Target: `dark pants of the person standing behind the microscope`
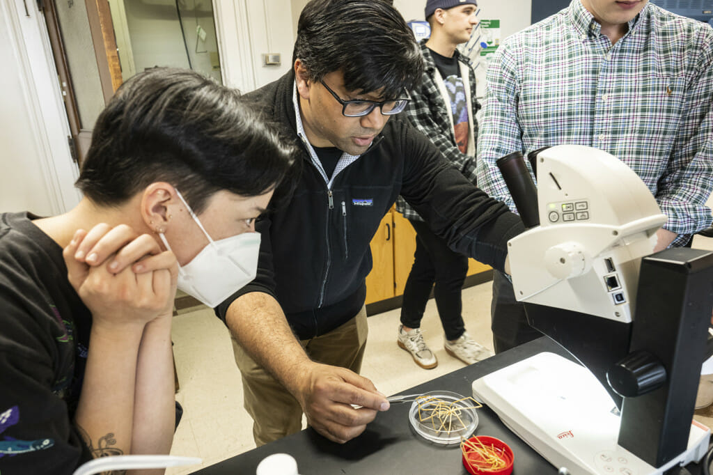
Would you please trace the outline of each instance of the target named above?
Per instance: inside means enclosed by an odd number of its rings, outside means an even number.
[[[493,271],[491,330],[495,352],[504,352],[543,334],[528,324],[523,304],[515,300],[513,284],[503,272]]]

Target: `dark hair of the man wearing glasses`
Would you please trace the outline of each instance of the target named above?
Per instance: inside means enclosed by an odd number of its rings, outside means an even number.
[[[304,63],[312,81],[344,73],[347,91],[397,98],[419,83],[421,49],[404,17],[389,1],[312,0],[302,10],[292,62]]]

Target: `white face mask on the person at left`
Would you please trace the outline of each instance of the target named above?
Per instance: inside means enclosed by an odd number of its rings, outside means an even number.
[[[183,267],[178,266],[178,288],[208,307],[215,308],[255,279],[260,233],[242,233],[214,241],[178,190],[176,194],[209,241],[193,260]],[[171,250],[163,233],[158,236]]]

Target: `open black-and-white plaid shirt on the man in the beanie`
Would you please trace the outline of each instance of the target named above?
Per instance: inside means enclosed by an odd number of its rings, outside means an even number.
[[[421,41],[421,53],[424,56],[425,69],[421,76],[421,86],[409,91],[411,101],[406,106],[404,113],[409,118],[409,121],[416,126],[424,135],[441,150],[441,153],[453,162],[453,165],[461,170],[466,178],[475,183],[476,180],[476,157],[475,155],[467,155],[461,153],[456,145],[456,136],[453,133],[453,113],[451,112],[451,103],[448,98],[443,98],[441,89],[438,88],[436,81],[443,81],[436,68],[431,50],[426,47],[426,40]],[[481,108],[481,105],[476,101],[476,73],[473,71],[471,60],[459,53],[457,50],[455,56],[458,61],[467,66],[468,78],[463,78],[463,87],[469,88],[468,95],[471,100],[471,108],[468,111],[473,122],[473,134],[470,140],[475,141],[478,137],[478,124],[476,122],[476,113]],[[463,68],[461,68],[461,72]],[[473,149],[474,150],[474,149]],[[399,196],[396,200],[396,210],[402,213],[409,220],[422,221],[419,213],[416,213],[409,203],[406,203],[404,198]]]

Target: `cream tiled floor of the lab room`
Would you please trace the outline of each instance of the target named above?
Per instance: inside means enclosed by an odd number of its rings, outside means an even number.
[[[694,245],[713,249],[713,239],[697,238]],[[466,328],[473,338],[492,349],[490,302],[490,282],[463,291]],[[369,317],[362,374],[384,394],[395,394],[463,367],[443,349],[443,330],[433,300],[429,301],[421,329],[436,353],[438,367],[421,369],[396,346],[398,325],[398,309]],[[184,313],[174,317],[173,342],[180,382],[177,399],[184,413],[171,453],[199,456],[207,466],[255,447],[252,421],[242,409],[240,373],[225,325],[207,308]],[[713,409],[697,412],[696,419],[710,426]],[[188,474],[199,468],[168,469],[166,473]]]

